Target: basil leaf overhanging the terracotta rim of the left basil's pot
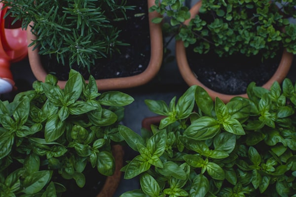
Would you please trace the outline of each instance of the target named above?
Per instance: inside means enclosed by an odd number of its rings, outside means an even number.
[[[113,175],[115,171],[115,160],[110,152],[101,151],[97,154],[97,169],[105,176]]]

